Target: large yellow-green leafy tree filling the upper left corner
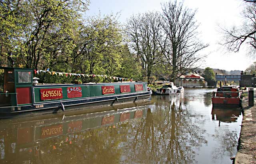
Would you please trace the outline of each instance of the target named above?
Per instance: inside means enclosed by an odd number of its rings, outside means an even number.
[[[74,29],[88,4],[87,0],[1,1],[0,14],[8,13],[1,18],[1,55],[29,68],[38,68],[39,63],[40,67],[54,66],[58,58],[63,61],[63,56],[70,55]]]

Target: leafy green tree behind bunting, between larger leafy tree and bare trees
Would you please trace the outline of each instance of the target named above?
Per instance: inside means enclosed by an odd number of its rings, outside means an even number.
[[[116,16],[88,19],[72,54],[81,73],[115,75],[121,65],[122,31]]]

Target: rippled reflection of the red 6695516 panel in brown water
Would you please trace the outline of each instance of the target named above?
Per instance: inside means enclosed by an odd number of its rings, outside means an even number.
[[[41,128],[41,132],[42,132],[41,138],[58,136],[58,135],[62,134],[62,131],[63,131],[62,124],[43,127],[43,128]]]

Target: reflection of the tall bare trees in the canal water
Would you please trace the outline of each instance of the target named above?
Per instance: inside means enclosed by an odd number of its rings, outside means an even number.
[[[178,99],[172,104],[166,99],[168,96],[157,97],[151,106],[154,112],[149,108],[146,120],[134,127],[124,163],[196,163],[192,146],[207,142],[204,130],[191,124],[195,121]]]

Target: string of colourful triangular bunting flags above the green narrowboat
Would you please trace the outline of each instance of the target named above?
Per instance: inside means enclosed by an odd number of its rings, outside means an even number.
[[[50,75],[56,75],[56,76],[77,76],[77,77],[104,77],[104,78],[109,78],[109,79],[114,79],[117,81],[132,81],[132,79],[128,79],[128,78],[123,78],[123,77],[115,77],[115,76],[108,76],[108,75],[88,75],[88,74],[82,74],[82,73],[66,73],[66,72],[56,72],[56,71],[49,71],[49,69],[47,70],[34,70],[35,74],[39,74],[39,73],[49,73]]]

